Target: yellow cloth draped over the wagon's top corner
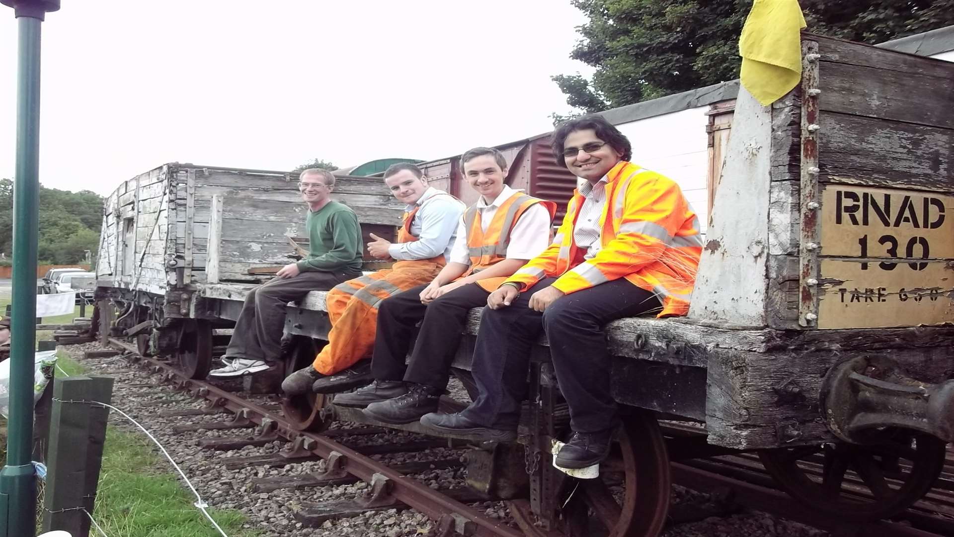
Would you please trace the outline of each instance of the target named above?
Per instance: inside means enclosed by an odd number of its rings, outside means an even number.
[[[756,0],[738,39],[742,86],[762,106],[792,91],[801,80],[801,43],[805,28],[798,0]]]

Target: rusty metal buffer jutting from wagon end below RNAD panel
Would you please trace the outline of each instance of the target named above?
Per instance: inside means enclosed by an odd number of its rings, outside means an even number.
[[[841,440],[872,443],[886,429],[902,428],[954,441],[954,380],[922,382],[886,356],[836,365],[819,397],[825,425]]]

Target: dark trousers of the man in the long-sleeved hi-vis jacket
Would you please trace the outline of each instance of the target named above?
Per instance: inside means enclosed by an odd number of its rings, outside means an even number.
[[[546,333],[560,392],[570,406],[570,427],[592,433],[614,425],[612,356],[603,325],[658,310],[659,300],[651,291],[619,279],[562,296],[542,313],[531,310],[530,296],[554,281],[541,280],[507,308],[484,310],[471,366],[480,397],[464,411],[468,419],[516,427],[527,390],[530,348]]]

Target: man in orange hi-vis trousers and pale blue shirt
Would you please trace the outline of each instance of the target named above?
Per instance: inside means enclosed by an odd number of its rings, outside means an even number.
[[[395,263],[391,269],[348,280],[328,291],[328,344],[312,365],[285,378],[281,389],[286,395],[340,391],[369,382],[368,368],[360,376],[346,375],[350,384],[333,380],[334,374],[370,356],[381,301],[433,280],[446,265],[465,205],[445,191],[428,186],[421,168],[411,163],[392,164],[384,171],[384,183],[395,198],[407,204],[404,225],[397,243],[372,234],[374,240],[367,244],[367,251],[377,259],[390,258]],[[327,386],[322,387],[322,381]]]

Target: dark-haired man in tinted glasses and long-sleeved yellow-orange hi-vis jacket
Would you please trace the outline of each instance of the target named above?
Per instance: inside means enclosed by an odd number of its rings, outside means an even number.
[[[606,119],[570,119],[552,143],[557,161],[584,181],[550,247],[487,298],[471,365],[480,396],[462,412],[421,422],[515,439],[530,347],[546,333],[573,430],[555,462],[585,468],[609,454],[617,421],[603,325],[689,311],[702,242],[679,186],[630,162],[630,141]]]

